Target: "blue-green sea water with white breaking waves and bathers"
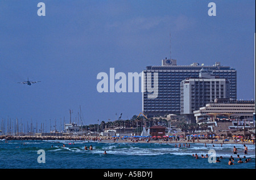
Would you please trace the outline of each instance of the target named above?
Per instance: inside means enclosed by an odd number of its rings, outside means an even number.
[[[74,143],[74,144],[73,144]],[[243,154],[243,144],[207,144],[189,143],[190,148],[175,147],[175,143],[113,143],[88,141],[52,141],[52,140],[0,140],[1,169],[255,169],[255,145],[248,144],[248,155]],[[65,147],[63,147],[65,144]],[[93,150],[85,150],[92,145]],[[238,164],[233,154],[236,145],[238,154],[251,158],[248,163]],[[45,152],[45,163],[39,163],[38,151]],[[218,163],[209,163],[209,150],[214,149],[216,157],[223,159]],[[106,155],[104,155],[106,151]],[[196,159],[192,154],[199,155]],[[230,156],[235,165],[229,166]]]

